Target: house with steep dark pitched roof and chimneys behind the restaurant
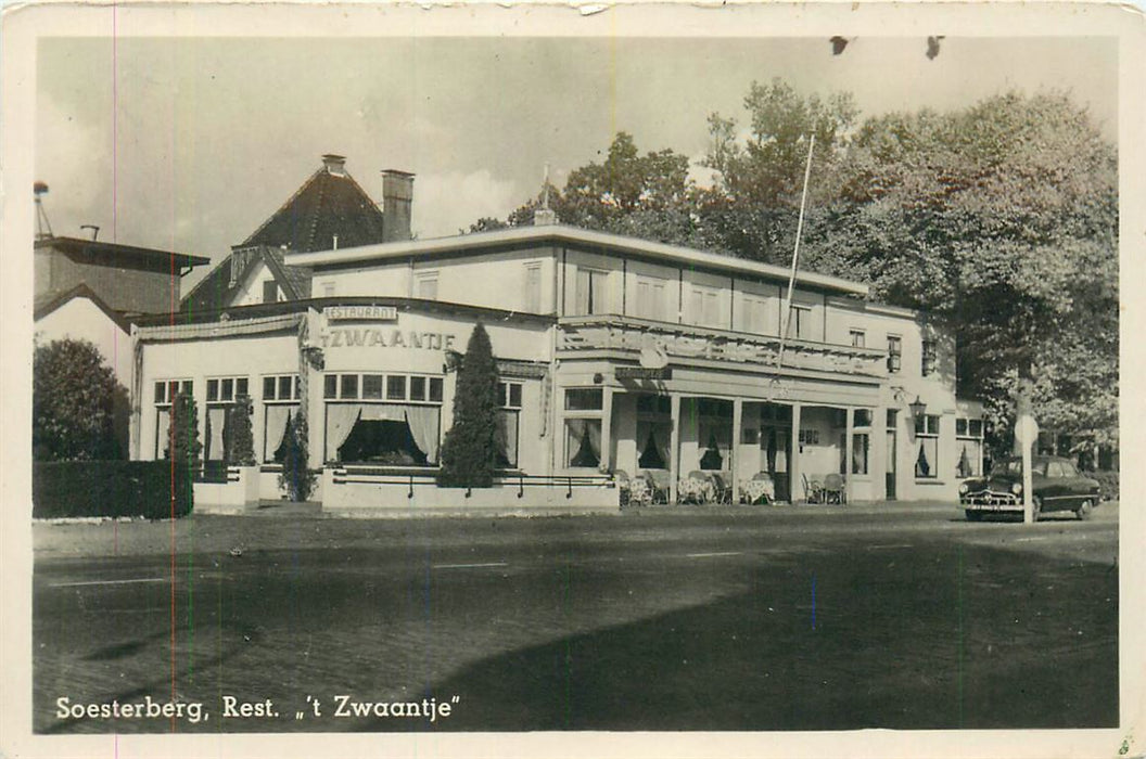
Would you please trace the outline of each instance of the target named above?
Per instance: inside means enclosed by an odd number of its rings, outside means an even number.
[[[414,175],[383,172],[383,207],[346,172],[343,156],[322,167],[183,298],[182,311],[311,297],[311,270],[284,254],[358,247],[410,238]]]

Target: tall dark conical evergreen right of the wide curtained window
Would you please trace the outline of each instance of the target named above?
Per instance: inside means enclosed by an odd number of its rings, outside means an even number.
[[[470,334],[457,370],[454,425],[441,446],[438,484],[449,488],[488,488],[496,467],[497,362],[485,326]]]

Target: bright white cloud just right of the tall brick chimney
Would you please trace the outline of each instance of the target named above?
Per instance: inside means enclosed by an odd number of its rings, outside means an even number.
[[[414,232],[422,238],[456,235],[482,216],[504,219],[528,196],[488,169],[419,174],[414,181]]]

